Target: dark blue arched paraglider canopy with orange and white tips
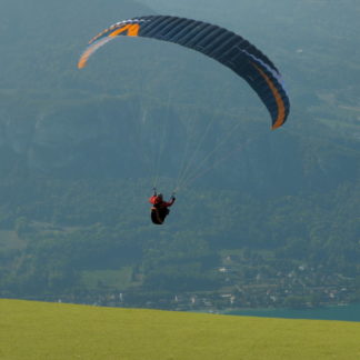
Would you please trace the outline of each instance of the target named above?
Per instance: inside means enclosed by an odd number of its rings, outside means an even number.
[[[197,50],[243,78],[267,107],[272,129],[281,127],[289,114],[290,102],[281,74],[274,64],[239,34],[207,22],[167,16],[148,16],[114,23],[89,42],[78,67],[103,44],[119,36],[153,38]]]

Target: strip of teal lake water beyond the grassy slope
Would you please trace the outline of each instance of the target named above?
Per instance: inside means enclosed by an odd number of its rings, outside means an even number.
[[[284,318],[284,319],[360,321],[360,303],[341,306],[341,307],[306,309],[306,310],[290,310],[290,309],[239,310],[239,311],[227,312],[227,314],[264,317],[264,318]]]

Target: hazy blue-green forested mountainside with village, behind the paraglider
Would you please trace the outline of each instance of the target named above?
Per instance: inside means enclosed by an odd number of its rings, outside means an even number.
[[[166,7],[269,54],[291,101],[271,131],[244,81],[176,44],[124,38],[77,69],[91,37],[161,1],[4,0],[0,296],[177,309],[359,301],[359,6],[346,2],[294,12],[279,1],[266,20],[264,1],[244,1],[227,21],[214,1],[202,17],[200,2]],[[180,186],[158,228],[156,180],[169,196]]]

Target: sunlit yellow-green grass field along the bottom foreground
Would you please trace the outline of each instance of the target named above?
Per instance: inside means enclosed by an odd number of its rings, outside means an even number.
[[[0,359],[360,359],[360,323],[0,299]]]

